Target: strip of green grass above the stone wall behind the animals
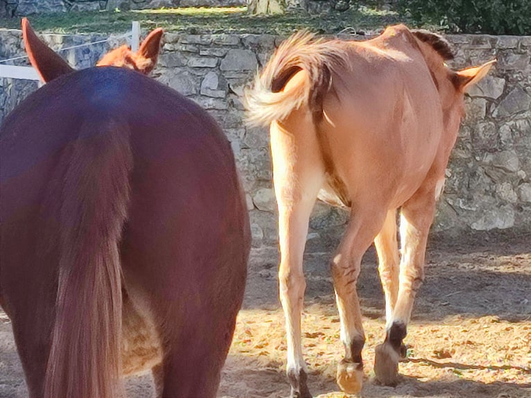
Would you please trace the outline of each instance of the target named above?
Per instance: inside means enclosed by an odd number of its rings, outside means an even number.
[[[199,33],[270,33],[289,35],[306,28],[315,33],[378,31],[390,24],[410,20],[397,12],[360,6],[345,12],[309,16],[303,12],[253,16],[239,8],[173,8],[128,12],[70,12],[60,15],[35,15],[30,22],[39,33],[125,33],[131,21],[140,21],[143,31],[162,27],[166,31]],[[19,28],[17,18],[0,19],[0,28]]]

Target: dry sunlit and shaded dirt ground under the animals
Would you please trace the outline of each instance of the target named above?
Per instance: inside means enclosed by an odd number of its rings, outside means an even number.
[[[255,249],[243,309],[219,397],[289,395],[284,318],[275,248]],[[315,396],[347,397],[333,380],[342,355],[329,252],[306,254],[303,343]],[[358,292],[367,343],[362,397],[531,397],[531,235],[478,234],[430,241],[426,281],[415,304],[396,388],[374,382],[374,347],[384,336],[383,293],[374,250]],[[127,381],[130,398],[150,397],[149,376]],[[0,397],[26,397],[10,323],[0,312]],[[198,397],[201,398],[201,397]]]

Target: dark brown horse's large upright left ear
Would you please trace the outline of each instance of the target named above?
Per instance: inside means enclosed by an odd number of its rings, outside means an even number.
[[[22,36],[31,65],[37,69],[44,82],[48,83],[59,76],[74,71],[65,60],[35,35],[27,18],[22,19]]]

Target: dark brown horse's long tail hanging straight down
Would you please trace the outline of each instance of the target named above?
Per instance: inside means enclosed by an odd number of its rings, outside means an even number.
[[[89,121],[58,164],[59,271],[44,398],[123,397],[119,241],[132,169],[129,128]]]

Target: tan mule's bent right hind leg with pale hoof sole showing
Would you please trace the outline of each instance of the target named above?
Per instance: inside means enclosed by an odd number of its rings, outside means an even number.
[[[341,390],[349,394],[360,392],[363,386],[361,351],[365,344],[365,334],[356,282],[363,253],[373,241],[383,222],[383,217],[376,216],[376,213],[372,211],[370,213],[372,217],[367,218],[366,222],[363,221],[363,217],[360,217],[361,214],[356,214],[356,219],[350,221],[338,252],[331,262],[333,285],[341,320],[340,338],[345,346],[345,358],[338,365],[336,381]]]

